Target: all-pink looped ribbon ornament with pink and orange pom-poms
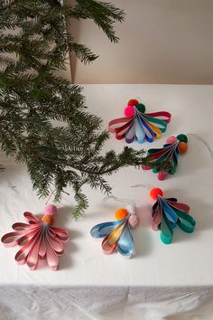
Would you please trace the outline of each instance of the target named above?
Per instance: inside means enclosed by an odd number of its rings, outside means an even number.
[[[42,220],[31,212],[24,212],[28,223],[17,222],[13,232],[6,233],[2,242],[6,247],[19,245],[22,248],[14,259],[18,264],[26,263],[31,270],[38,266],[39,259],[46,259],[52,270],[59,268],[59,257],[64,253],[63,242],[68,240],[68,231],[53,227],[53,216],[57,212],[55,205],[45,207]]]

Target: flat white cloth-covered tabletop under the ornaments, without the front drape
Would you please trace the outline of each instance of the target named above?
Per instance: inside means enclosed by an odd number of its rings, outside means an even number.
[[[213,86],[182,85],[85,85],[89,111],[103,118],[103,128],[113,118],[123,115],[128,99],[141,98],[147,112],[171,112],[171,124],[153,146],[162,146],[171,135],[196,134],[213,149]],[[124,141],[111,136],[105,149],[122,150]],[[139,149],[151,145],[131,146]],[[1,236],[11,230],[14,221],[23,221],[23,212],[42,213],[45,200],[38,200],[24,166],[1,155],[6,170],[1,173]],[[1,285],[43,286],[212,286],[213,261],[213,170],[208,147],[196,136],[189,136],[189,151],[181,155],[177,174],[160,182],[151,171],[128,167],[108,178],[113,195],[136,203],[140,226],[134,233],[135,256],[122,259],[116,253],[106,256],[100,242],[92,240],[90,229],[102,221],[113,221],[115,211],[125,203],[109,199],[98,190],[85,187],[89,208],[80,221],[71,219],[75,204],[72,196],[63,196],[56,224],[69,230],[66,254],[60,257],[57,272],[41,266],[35,271],[18,266],[14,261],[17,248],[1,246]],[[137,185],[137,187],[135,187]],[[153,201],[149,190],[160,187],[166,196],[188,203],[197,221],[193,234],[174,231],[171,245],[164,245],[160,233],[152,231]],[[69,190],[68,190],[69,192]]]

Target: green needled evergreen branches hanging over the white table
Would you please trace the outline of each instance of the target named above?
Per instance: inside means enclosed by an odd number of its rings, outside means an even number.
[[[146,164],[144,151],[125,147],[101,154],[108,134],[88,113],[81,88],[55,74],[69,49],[84,62],[97,56],[67,34],[66,19],[92,19],[112,42],[114,23],[124,19],[114,5],[78,0],[0,0],[0,143],[8,156],[27,165],[39,196],[55,189],[55,201],[71,186],[78,218],[88,207],[82,186],[110,193],[104,176],[127,165]],[[2,169],[2,168],[1,168]]]

